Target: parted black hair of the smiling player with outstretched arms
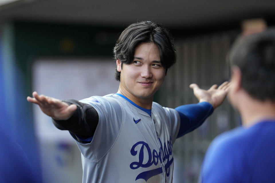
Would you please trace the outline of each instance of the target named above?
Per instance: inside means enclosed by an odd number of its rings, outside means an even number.
[[[115,59],[120,59],[121,68],[123,63],[133,62],[137,45],[148,42],[158,46],[160,62],[166,71],[176,62],[176,50],[169,31],[154,22],[142,21],[129,25],[117,39],[113,52]],[[117,68],[115,68],[115,79],[120,81],[120,72]]]

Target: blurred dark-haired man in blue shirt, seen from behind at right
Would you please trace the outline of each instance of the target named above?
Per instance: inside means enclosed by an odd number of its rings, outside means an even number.
[[[242,126],[213,140],[201,182],[275,182],[275,29],[239,38],[229,61],[228,96]]]

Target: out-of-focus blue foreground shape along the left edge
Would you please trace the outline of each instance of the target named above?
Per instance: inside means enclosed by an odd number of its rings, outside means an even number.
[[[23,151],[15,142],[5,106],[5,78],[0,39],[0,182],[34,183],[39,182],[37,174]]]

